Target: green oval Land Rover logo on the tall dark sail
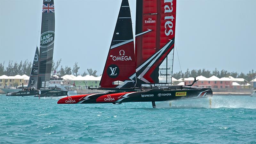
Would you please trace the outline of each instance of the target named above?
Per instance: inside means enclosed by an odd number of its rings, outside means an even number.
[[[54,42],[54,31],[47,31],[41,35],[40,46],[47,47]]]

